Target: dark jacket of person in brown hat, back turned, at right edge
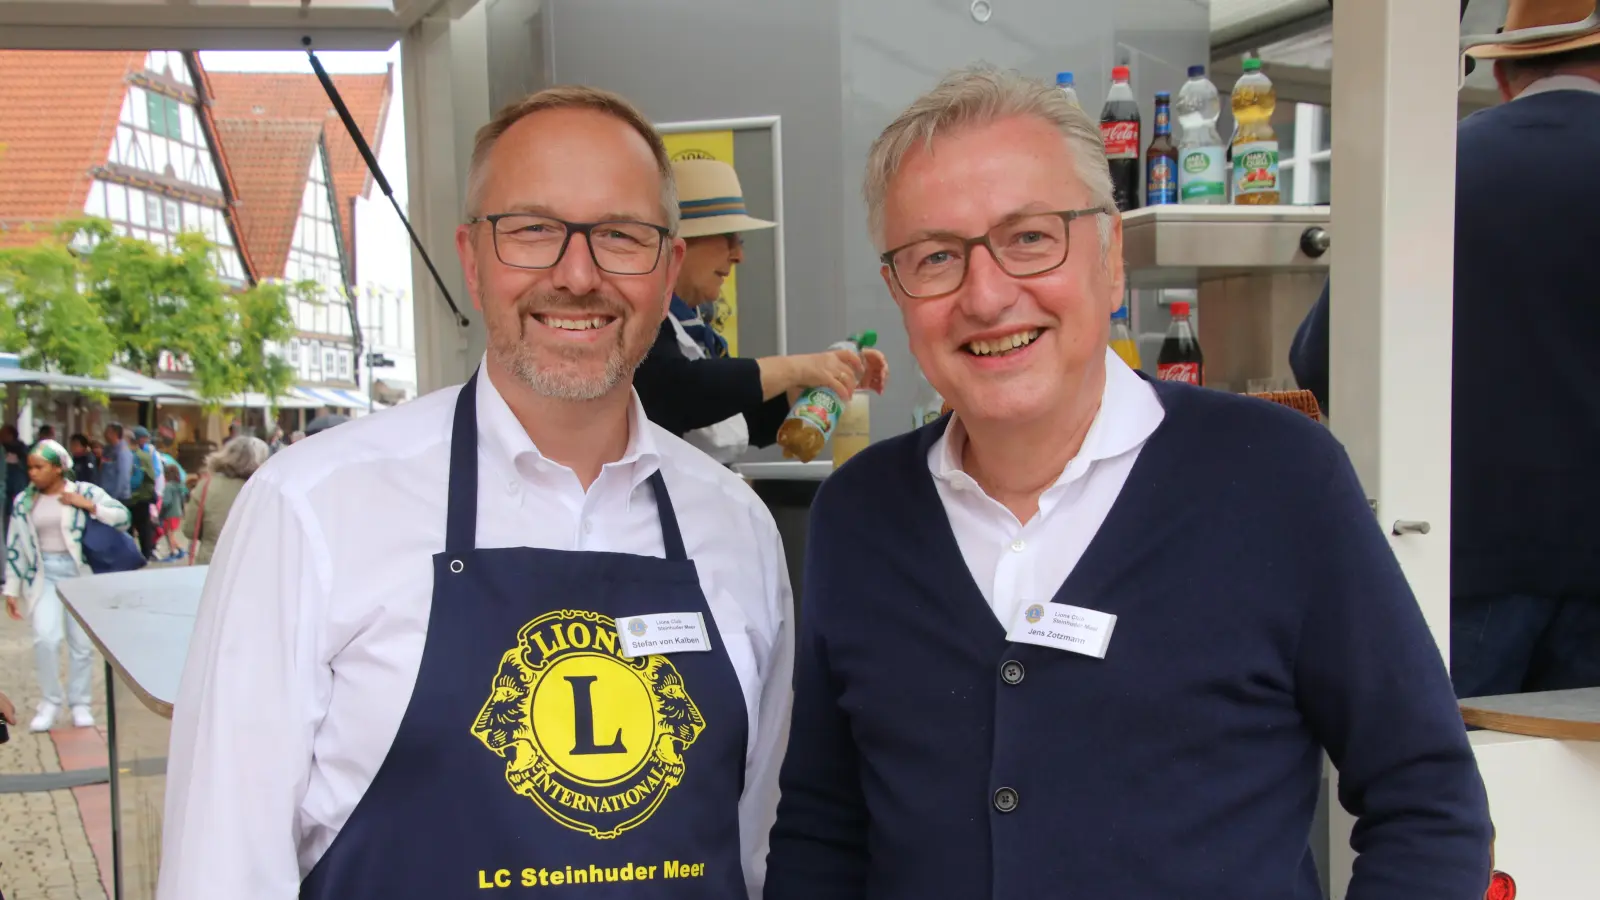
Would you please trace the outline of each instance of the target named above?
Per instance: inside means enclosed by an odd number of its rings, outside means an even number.
[[[1450,593],[1600,596],[1600,94],[1456,131]],[[1328,293],[1290,364],[1328,408]],[[1403,335],[1392,340],[1403,340]],[[1330,410],[1338,415],[1338,410]]]

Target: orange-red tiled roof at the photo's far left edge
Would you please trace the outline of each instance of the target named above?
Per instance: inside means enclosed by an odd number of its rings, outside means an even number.
[[[0,245],[83,215],[90,170],[110,155],[130,72],[144,53],[0,51]]]

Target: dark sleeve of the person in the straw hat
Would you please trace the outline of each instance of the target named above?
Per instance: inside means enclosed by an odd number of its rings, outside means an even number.
[[[760,364],[739,357],[690,359],[667,320],[634,373],[634,389],[650,421],[678,437],[742,415],[750,447],[766,447],[778,440],[778,428],[789,415],[786,396],[762,399]]]

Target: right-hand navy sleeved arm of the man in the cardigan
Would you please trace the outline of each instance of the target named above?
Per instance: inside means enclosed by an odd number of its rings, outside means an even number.
[[[1307,612],[1294,693],[1355,817],[1349,900],[1462,900],[1490,881],[1488,798],[1450,674],[1342,448],[1298,538]]]

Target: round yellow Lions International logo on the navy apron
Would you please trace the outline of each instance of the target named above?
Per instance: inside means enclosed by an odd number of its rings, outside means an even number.
[[[514,791],[600,839],[656,812],[702,730],[678,669],[666,657],[626,658],[616,621],[587,610],[522,626],[472,725]]]

